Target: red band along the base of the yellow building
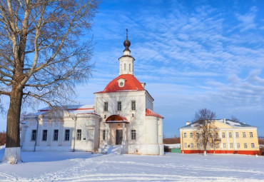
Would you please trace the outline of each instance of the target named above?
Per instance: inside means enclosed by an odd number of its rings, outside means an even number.
[[[203,150],[181,150],[181,153],[203,153]],[[245,155],[260,155],[260,151],[221,151],[221,150],[210,150],[206,153],[233,153],[233,154],[245,154]]]

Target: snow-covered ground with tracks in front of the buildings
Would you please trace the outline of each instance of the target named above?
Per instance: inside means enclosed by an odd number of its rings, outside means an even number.
[[[114,148],[113,148],[114,149]],[[0,149],[0,158],[4,149]],[[0,163],[0,181],[264,181],[264,157],[166,153],[22,152]]]

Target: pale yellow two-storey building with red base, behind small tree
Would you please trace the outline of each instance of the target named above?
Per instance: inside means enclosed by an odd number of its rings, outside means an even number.
[[[260,154],[257,127],[225,118],[215,120],[214,125],[216,137],[208,143],[207,153]],[[195,123],[187,121],[179,129],[181,153],[203,153],[202,143],[196,140]]]

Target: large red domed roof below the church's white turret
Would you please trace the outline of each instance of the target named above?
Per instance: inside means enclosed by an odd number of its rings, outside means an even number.
[[[125,79],[125,84],[123,87],[118,86],[118,79]],[[116,79],[113,79],[103,91],[99,91],[96,93],[109,93],[116,91],[145,91],[141,83],[136,79],[135,76],[131,74],[122,74]]]

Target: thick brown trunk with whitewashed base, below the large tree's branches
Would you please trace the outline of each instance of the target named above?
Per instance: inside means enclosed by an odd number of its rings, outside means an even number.
[[[11,91],[9,111],[7,113],[6,148],[2,161],[18,163],[20,156],[20,112],[23,91]]]

